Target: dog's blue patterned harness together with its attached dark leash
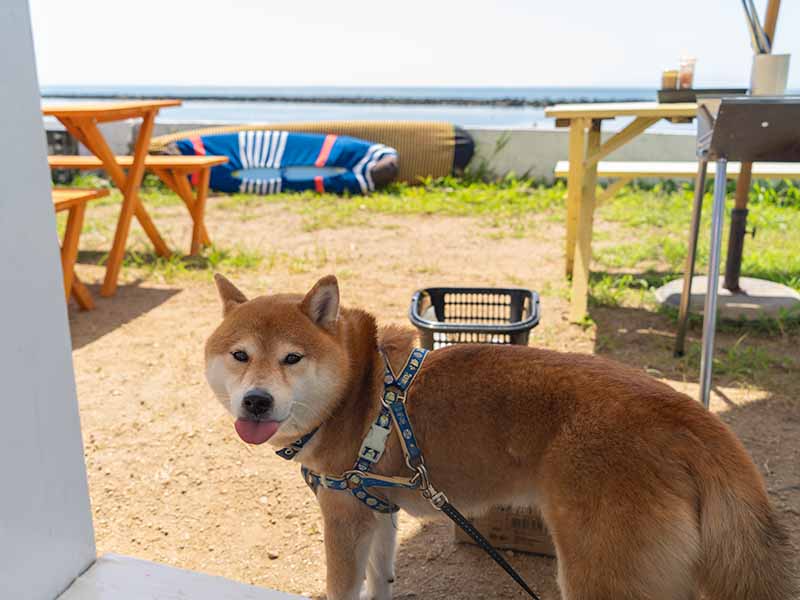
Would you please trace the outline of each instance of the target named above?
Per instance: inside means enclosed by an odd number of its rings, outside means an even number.
[[[400,375],[395,375],[389,359],[381,351],[383,357],[384,378],[383,378],[383,397],[381,399],[381,411],[378,418],[370,428],[367,437],[361,445],[356,464],[350,471],[346,471],[341,477],[314,473],[305,466],[301,467],[303,479],[316,494],[317,489],[322,486],[332,490],[349,490],[358,500],[366,504],[372,510],[383,513],[394,513],[400,510],[397,505],[388,502],[372,494],[369,487],[395,487],[405,489],[418,489],[422,496],[431,503],[436,510],[444,513],[453,523],[458,525],[464,533],[472,538],[475,543],[493,561],[500,565],[503,570],[534,600],[541,600],[522,576],[512,567],[508,561],[492,546],[480,531],[462,515],[447,499],[444,492],[437,491],[430,482],[428,469],[422,457],[422,451],[417,444],[414,431],[411,428],[411,421],[406,412],[405,401],[406,392],[419,372],[422,362],[425,360],[428,351],[415,348],[408,357]],[[386,444],[386,438],[392,426],[397,429],[400,438],[400,446],[405,455],[406,465],[414,471],[411,478],[387,477],[369,472],[372,465],[380,460]],[[276,452],[281,458],[292,460],[303,446],[316,433],[316,429],[294,442],[288,448],[283,448]]]

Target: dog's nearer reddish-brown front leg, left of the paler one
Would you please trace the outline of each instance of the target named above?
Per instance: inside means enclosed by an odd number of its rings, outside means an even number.
[[[325,527],[328,600],[359,600],[375,517],[347,492],[320,489],[317,497]]]

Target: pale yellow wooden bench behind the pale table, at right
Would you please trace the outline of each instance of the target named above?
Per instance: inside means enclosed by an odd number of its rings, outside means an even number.
[[[734,179],[741,171],[740,163],[728,163],[727,177]],[[714,177],[715,165],[708,164],[708,177]],[[560,160],[554,171],[556,177],[569,175],[569,161]],[[697,175],[697,163],[677,162],[631,162],[600,161],[597,176],[615,179],[605,190],[597,194],[597,202],[603,202],[616,194],[632,179],[693,179]],[[800,163],[753,163],[753,177],[761,179],[800,179]]]

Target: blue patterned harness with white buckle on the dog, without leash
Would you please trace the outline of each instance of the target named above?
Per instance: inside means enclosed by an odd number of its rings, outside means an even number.
[[[422,452],[419,449],[416,437],[414,437],[414,430],[411,428],[411,421],[408,418],[405,406],[406,392],[414,382],[414,378],[427,354],[428,351],[422,348],[412,350],[405,366],[400,371],[400,375],[396,376],[386,354],[381,352],[384,362],[384,376],[380,413],[378,413],[378,417],[361,443],[361,449],[351,470],[345,471],[339,477],[335,477],[324,473],[315,473],[304,466],[300,468],[303,479],[315,493],[320,486],[331,490],[350,490],[356,498],[372,510],[382,513],[394,513],[400,510],[399,506],[376,496],[368,488],[403,488],[407,490],[428,488]],[[383,456],[392,424],[394,424],[399,434],[400,445],[406,457],[406,465],[415,472],[413,477],[388,477],[377,475],[370,471]],[[278,450],[276,454],[286,460],[293,460],[316,432],[317,430],[315,429],[307,433],[290,446]],[[420,467],[423,467],[422,470],[420,470]]]

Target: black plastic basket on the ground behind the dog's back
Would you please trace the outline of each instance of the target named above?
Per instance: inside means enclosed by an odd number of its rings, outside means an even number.
[[[429,350],[465,343],[527,345],[539,324],[539,295],[517,288],[426,288],[414,293],[408,316]]]

